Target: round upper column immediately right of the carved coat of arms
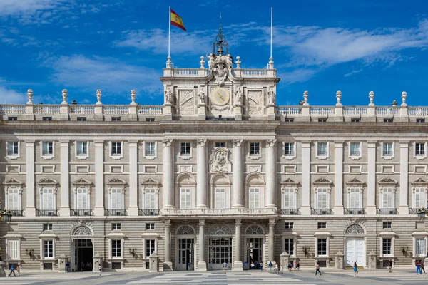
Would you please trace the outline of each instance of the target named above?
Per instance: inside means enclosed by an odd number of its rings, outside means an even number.
[[[243,208],[243,140],[232,140],[233,144],[233,208]]]

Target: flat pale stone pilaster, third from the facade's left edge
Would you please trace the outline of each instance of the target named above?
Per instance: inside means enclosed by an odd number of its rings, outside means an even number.
[[[104,216],[104,141],[95,141],[95,209],[96,216]]]

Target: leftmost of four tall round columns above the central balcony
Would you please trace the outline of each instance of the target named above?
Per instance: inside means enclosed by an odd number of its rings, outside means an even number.
[[[173,140],[163,140],[163,209],[174,207]]]

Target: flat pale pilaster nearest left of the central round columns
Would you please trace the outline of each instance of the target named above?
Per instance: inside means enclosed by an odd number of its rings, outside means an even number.
[[[128,214],[130,216],[138,216],[138,141],[133,141],[128,143],[129,143]]]

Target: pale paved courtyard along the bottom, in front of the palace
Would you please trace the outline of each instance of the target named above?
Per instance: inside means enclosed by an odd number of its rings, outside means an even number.
[[[22,274],[2,278],[1,284],[427,284],[427,275],[416,275],[413,271],[360,271],[360,276],[354,278],[352,271],[325,271],[322,276],[315,276],[312,271],[285,272],[274,274],[260,271],[208,271],[186,272],[176,271],[169,273],[104,273],[102,276],[91,273],[69,274]]]

